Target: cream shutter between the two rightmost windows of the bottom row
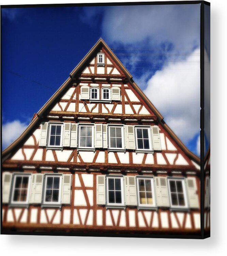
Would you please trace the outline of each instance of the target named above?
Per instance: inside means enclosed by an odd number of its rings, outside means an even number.
[[[155,177],[157,206],[169,207],[169,194],[166,177]]]

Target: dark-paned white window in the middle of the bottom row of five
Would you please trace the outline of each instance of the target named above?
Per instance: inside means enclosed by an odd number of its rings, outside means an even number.
[[[124,205],[123,177],[107,177],[107,204]]]

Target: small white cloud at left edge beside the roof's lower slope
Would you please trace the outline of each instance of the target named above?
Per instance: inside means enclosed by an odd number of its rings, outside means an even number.
[[[14,120],[2,125],[2,148],[6,148],[17,139],[26,127],[27,124],[21,123],[19,120]]]

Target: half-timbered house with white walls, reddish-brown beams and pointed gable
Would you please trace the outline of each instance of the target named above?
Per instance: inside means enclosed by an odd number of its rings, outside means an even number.
[[[200,233],[200,159],[102,39],[2,157],[3,230]]]

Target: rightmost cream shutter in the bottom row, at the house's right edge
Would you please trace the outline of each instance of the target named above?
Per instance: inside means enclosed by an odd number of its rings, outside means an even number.
[[[190,208],[199,208],[199,199],[197,195],[196,178],[188,177],[187,183],[187,195]]]

